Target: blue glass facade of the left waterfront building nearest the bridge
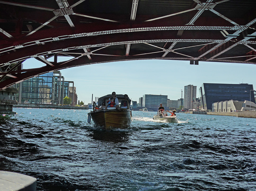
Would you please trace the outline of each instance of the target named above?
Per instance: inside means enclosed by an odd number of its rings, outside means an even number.
[[[21,103],[26,100],[30,104],[53,104],[55,77],[53,72],[42,74],[25,80],[21,86]]]

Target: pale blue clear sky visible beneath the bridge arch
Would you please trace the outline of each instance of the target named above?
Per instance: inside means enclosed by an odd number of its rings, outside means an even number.
[[[58,57],[58,62],[70,57]],[[51,61],[51,60],[48,60]],[[23,62],[23,68],[45,66],[30,58]],[[200,62],[190,65],[189,61],[136,60],[92,64],[60,70],[65,81],[74,81],[79,101],[91,103],[95,97],[111,94],[127,94],[133,101],[139,101],[144,94],[167,95],[170,100],[184,98],[184,86],[203,83],[255,84],[256,65],[242,63]],[[255,89],[255,86],[254,86]]]

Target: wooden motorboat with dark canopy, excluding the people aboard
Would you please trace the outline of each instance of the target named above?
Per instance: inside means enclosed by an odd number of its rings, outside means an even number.
[[[107,106],[107,101],[110,97],[112,97],[111,94],[100,97],[98,99],[98,105],[101,106],[102,103],[105,103]],[[126,129],[130,127],[132,111],[130,110],[128,100],[124,99],[124,95],[122,94],[117,94],[116,97],[118,98],[120,109],[106,107],[97,111],[95,109],[96,104],[93,102],[93,111],[88,113],[88,123],[92,119],[95,126],[102,127],[106,130],[111,130],[112,128]],[[127,106],[122,106],[122,101],[126,102]]]

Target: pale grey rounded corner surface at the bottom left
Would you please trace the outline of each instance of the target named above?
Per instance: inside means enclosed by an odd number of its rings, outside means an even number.
[[[28,175],[0,171],[1,191],[36,191],[37,179]]]

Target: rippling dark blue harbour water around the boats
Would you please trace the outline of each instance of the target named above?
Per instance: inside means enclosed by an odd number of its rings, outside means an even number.
[[[133,111],[130,129],[102,131],[88,110],[14,111],[0,117],[0,170],[37,190],[256,190],[256,119]]]

